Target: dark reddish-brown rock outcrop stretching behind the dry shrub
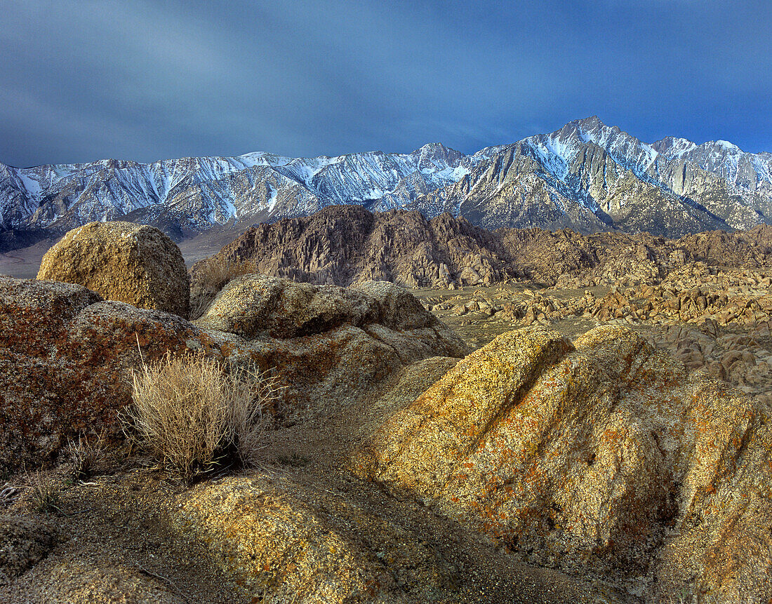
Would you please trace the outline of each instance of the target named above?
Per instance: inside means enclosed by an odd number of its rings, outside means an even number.
[[[79,434],[117,437],[141,356],[198,352],[256,364],[287,386],[274,411],[296,418],[308,405],[363,393],[406,363],[466,353],[390,283],[347,290],[246,276],[197,323],[103,301],[80,285],[0,277],[0,470],[45,461]]]

